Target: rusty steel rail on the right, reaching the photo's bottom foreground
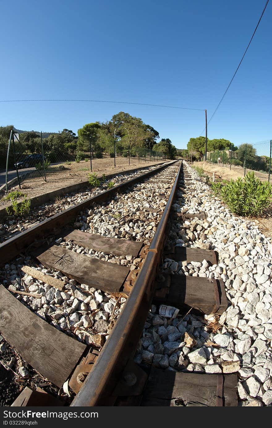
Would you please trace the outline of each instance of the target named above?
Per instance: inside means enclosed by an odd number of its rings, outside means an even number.
[[[129,359],[133,357],[152,303],[154,282],[161,262],[164,235],[170,208],[179,182],[182,164],[165,206],[149,251],[129,297],[111,331],[92,371],[88,374],[71,406],[113,405],[114,389]]]

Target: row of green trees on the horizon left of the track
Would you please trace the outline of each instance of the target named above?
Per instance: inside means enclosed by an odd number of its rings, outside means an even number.
[[[0,127],[0,156],[6,156],[9,136],[13,125]],[[15,130],[19,131],[19,130]],[[49,134],[49,133],[47,133]],[[48,158],[54,161],[54,153],[75,155],[77,152],[90,152],[90,143],[94,156],[99,157],[103,152],[109,157],[115,152],[127,156],[128,150],[132,155],[139,151],[152,150],[173,159],[176,147],[169,138],[159,140],[159,133],[142,119],[129,113],[119,112],[106,122],[90,122],[78,129],[77,135],[68,128],[58,133],[50,133],[43,138],[43,149]],[[36,131],[24,131],[19,134],[19,141],[28,153],[41,152],[41,137]],[[16,147],[19,145],[16,142]],[[15,148],[15,150],[17,150]],[[51,154],[51,156],[49,156]],[[3,162],[1,161],[1,164]]]

